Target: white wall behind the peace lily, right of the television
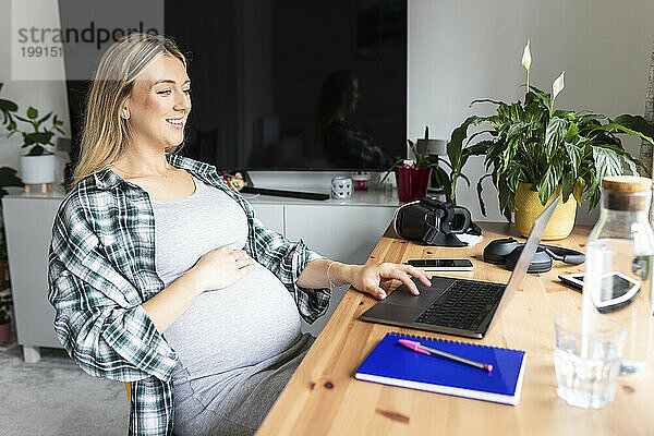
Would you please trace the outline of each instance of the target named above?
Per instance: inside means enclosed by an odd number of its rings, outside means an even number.
[[[522,98],[522,50],[531,39],[530,83],[550,90],[566,71],[556,107],[609,117],[643,113],[652,44],[652,0],[409,0],[408,135],[448,138],[475,98]],[[481,107],[479,107],[481,108]],[[475,108],[474,110],[480,110]],[[489,109],[489,108],[488,108]],[[638,156],[640,143],[626,142]],[[473,182],[458,199],[481,218],[474,183],[482,159],[469,161]],[[485,185],[487,220],[501,220],[497,192]],[[595,216],[580,210],[578,222]]]

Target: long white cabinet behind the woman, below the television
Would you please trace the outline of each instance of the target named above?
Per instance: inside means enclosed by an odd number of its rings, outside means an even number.
[[[344,263],[362,264],[388,227],[397,197],[361,194],[347,203],[256,196],[249,198],[268,228],[291,240],[303,239],[315,252]],[[39,359],[38,347],[61,344],[55,335],[55,311],[48,302],[48,249],[52,222],[63,194],[13,190],[2,198],[11,289],[19,343],[27,361]],[[334,292],[329,312],[305,330],[317,335],[346,288]]]

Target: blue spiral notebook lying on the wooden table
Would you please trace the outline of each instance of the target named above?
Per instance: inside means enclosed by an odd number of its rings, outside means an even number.
[[[416,353],[402,347],[399,339],[419,341],[425,347],[491,363],[493,372],[436,355]],[[525,360],[524,351],[386,334],[359,366],[354,377],[359,380],[516,405],[520,401]]]

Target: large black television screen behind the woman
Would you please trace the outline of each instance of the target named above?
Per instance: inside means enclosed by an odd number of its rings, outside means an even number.
[[[182,154],[223,170],[382,170],[405,154],[407,0],[162,4],[192,83]],[[87,86],[69,80],[74,145]]]

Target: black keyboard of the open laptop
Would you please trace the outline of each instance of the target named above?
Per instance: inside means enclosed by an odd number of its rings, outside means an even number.
[[[477,328],[505,288],[505,284],[457,280],[415,322],[461,330]]]

